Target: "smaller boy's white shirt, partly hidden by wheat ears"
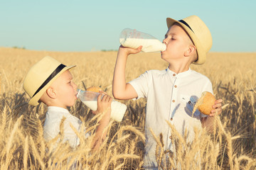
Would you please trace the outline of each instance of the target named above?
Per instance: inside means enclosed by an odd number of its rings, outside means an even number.
[[[46,121],[43,125],[43,137],[46,141],[52,140],[60,132],[60,121],[65,117],[64,121],[64,139],[63,142],[68,141],[70,147],[76,147],[80,144],[80,140],[75,135],[74,130],[70,127],[73,125],[75,130],[79,132],[82,122],[79,118],[71,115],[65,108],[59,108],[55,106],[49,106],[46,113]]]

